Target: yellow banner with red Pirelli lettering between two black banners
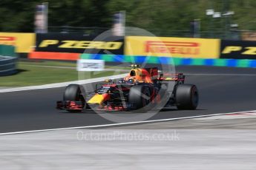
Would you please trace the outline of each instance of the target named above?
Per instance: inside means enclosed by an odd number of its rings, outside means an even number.
[[[219,58],[220,40],[206,38],[125,37],[125,55]]]

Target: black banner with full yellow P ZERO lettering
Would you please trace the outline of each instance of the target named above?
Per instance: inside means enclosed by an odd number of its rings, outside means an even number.
[[[124,38],[119,36],[97,40],[82,34],[36,34],[37,52],[73,52],[90,54],[123,54]]]

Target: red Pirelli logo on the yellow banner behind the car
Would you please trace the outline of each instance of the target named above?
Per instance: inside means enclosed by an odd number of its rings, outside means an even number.
[[[145,41],[145,52],[199,55],[200,43],[177,41]]]

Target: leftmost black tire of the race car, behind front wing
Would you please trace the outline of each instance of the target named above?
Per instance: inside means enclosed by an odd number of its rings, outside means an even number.
[[[63,94],[63,101],[82,101],[85,103],[79,84],[70,84],[66,87]],[[81,112],[81,110],[68,109],[68,112]]]

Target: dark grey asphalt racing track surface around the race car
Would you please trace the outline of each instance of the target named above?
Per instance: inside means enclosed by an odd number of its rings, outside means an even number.
[[[165,109],[149,120],[240,112],[256,108],[256,69],[177,67],[200,92],[197,110]],[[65,87],[0,93],[0,133],[113,123],[93,112],[55,109]],[[114,113],[117,114],[117,113]]]

